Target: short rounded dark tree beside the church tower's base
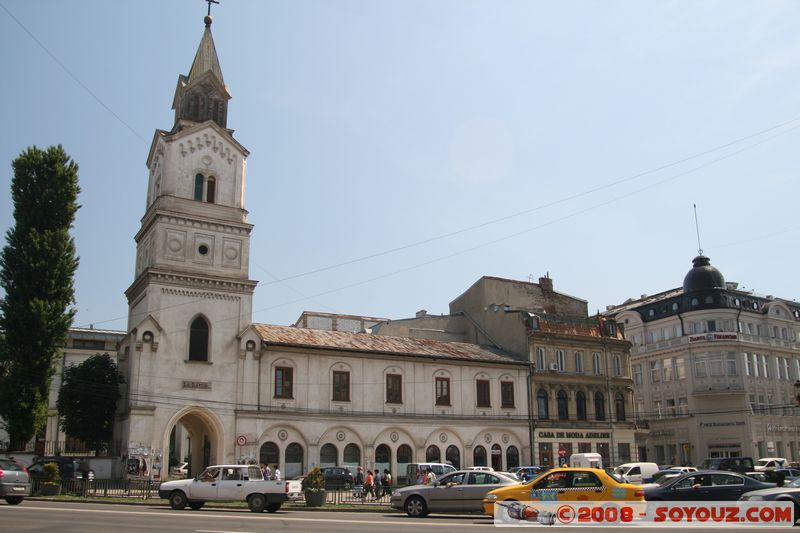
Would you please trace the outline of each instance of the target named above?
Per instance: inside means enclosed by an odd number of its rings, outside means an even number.
[[[108,354],[64,369],[58,392],[61,429],[99,450],[114,433],[114,413],[125,379]]]

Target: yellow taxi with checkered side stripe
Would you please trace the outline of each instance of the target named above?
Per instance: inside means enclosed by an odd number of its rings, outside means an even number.
[[[483,499],[494,515],[497,502],[644,501],[641,485],[625,483],[599,468],[554,468],[529,483],[495,489]]]

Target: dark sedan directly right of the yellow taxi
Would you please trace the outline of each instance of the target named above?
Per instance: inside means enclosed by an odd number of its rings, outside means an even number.
[[[775,483],[764,483],[736,472],[721,470],[699,470],[662,479],[660,484],[645,486],[645,500],[736,501],[745,492],[775,486]]]

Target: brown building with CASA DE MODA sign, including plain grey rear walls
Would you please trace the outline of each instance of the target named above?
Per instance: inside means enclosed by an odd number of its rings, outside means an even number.
[[[575,452],[605,464],[636,458],[630,344],[609,317],[589,317],[586,301],[539,283],[484,276],[450,303],[450,313],[372,328],[401,335],[493,346],[529,366],[528,444],[534,464]]]

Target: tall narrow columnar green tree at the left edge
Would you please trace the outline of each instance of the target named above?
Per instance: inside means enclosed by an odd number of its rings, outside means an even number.
[[[12,163],[14,226],[0,253],[0,417],[12,448],[44,427],[54,361],[75,310],[78,268],[69,234],[78,165],[61,146],[31,147]]]

